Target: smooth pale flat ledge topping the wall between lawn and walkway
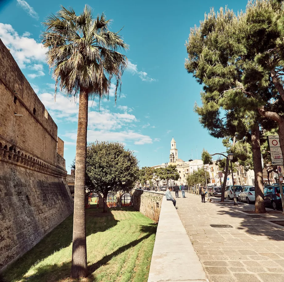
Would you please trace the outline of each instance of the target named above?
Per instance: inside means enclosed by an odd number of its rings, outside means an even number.
[[[158,281],[208,281],[173,202],[165,197],[148,276],[148,282]]]

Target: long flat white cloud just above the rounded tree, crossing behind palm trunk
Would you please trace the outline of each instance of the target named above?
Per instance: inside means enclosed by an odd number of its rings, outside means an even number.
[[[72,140],[77,139],[77,132],[69,132],[65,134],[66,137],[69,137]],[[114,141],[114,142],[128,142],[132,141],[135,145],[144,145],[144,144],[151,144],[153,143],[152,138],[148,135],[143,135],[131,130],[128,131],[120,131],[120,132],[113,132],[113,131],[95,131],[95,130],[88,130],[87,132],[87,141],[88,142],[95,142],[98,141]]]

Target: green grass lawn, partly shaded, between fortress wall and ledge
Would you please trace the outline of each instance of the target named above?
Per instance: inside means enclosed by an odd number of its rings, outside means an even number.
[[[4,273],[4,281],[78,281],[69,278],[73,215]],[[157,225],[132,208],[86,210],[86,282],[146,282]],[[1,279],[0,279],[1,280]]]

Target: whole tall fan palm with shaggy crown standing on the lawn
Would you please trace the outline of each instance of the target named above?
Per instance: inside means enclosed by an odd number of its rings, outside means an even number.
[[[73,8],[61,6],[56,15],[43,23],[42,43],[48,49],[46,61],[57,87],[74,99],[79,93],[78,131],[75,165],[75,195],[71,278],[87,276],[85,173],[88,100],[108,97],[111,81],[121,87],[121,76],[127,67],[128,45],[117,33],[109,30],[111,20],[105,15],[94,18],[89,6],[80,15]]]

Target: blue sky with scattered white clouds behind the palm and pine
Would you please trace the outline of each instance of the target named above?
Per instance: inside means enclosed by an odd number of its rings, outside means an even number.
[[[203,1],[91,1],[94,15],[113,19],[112,31],[120,32],[129,51],[129,66],[122,78],[122,94],[115,106],[113,89],[109,101],[89,103],[88,142],[123,142],[133,150],[140,166],[169,160],[170,141],[177,142],[183,160],[224,151],[222,140],[211,137],[198,122],[194,102],[200,103],[199,85],[184,68],[185,41],[190,27],[199,25],[210,7],[244,10],[246,0]],[[60,93],[54,102],[54,81],[45,63],[39,35],[50,13],[72,6],[79,13],[81,1],[0,0],[0,38],[10,48],[24,75],[58,126],[65,141],[66,169],[75,156],[77,102]],[[196,150],[197,149],[197,150]]]

